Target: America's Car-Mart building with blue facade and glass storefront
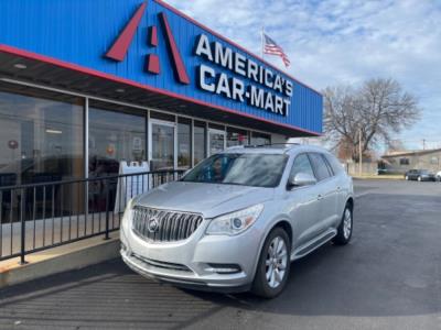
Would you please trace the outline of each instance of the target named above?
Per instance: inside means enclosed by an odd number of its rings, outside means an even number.
[[[321,133],[320,92],[162,1],[0,2],[2,186]]]

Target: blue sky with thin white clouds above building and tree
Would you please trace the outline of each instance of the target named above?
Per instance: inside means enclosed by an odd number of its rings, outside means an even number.
[[[168,0],[260,54],[260,31],[289,55],[298,79],[323,89],[392,77],[416,95],[421,120],[397,136],[408,147],[441,147],[441,1]],[[283,69],[278,57],[266,56]]]

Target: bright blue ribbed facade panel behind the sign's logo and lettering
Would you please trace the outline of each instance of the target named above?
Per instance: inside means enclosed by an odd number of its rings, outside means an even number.
[[[142,4],[141,0],[1,0],[0,44],[76,64],[265,120],[297,127],[318,134],[322,132],[323,101],[319,92],[286,74],[277,72],[243,48],[211,33],[161,2],[149,0],[147,3],[146,12],[122,62],[105,58],[104,55]],[[180,84],[175,79],[171,54],[165,45],[165,34],[158,16],[161,12],[166,14],[170,22],[190,76],[189,85]],[[148,28],[153,25],[158,26],[158,47],[148,45]],[[260,66],[292,81],[293,94],[288,116],[273,113],[247,102],[232,100],[198,88],[196,68],[201,64],[209,65],[216,73],[226,73],[228,77],[247,80],[227,68],[196,56],[194,47],[201,34],[207,35],[211,42],[218,42],[232,48],[233,52],[243,54]],[[159,75],[144,70],[144,61],[148,54],[159,56],[161,69]],[[246,82],[248,84],[248,81]],[[270,91],[267,87],[258,87]]]

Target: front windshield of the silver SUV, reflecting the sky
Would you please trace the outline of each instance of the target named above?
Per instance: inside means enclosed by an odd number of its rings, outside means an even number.
[[[273,188],[280,183],[287,160],[281,154],[216,154],[200,163],[182,180]]]

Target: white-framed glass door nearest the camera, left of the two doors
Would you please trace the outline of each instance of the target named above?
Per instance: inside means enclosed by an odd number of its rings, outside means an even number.
[[[175,123],[151,120],[149,135],[150,170],[175,168]]]

